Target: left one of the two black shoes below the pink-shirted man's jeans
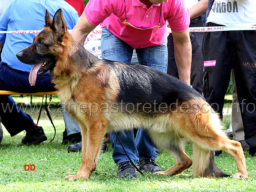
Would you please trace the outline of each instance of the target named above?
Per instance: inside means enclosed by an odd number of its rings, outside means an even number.
[[[137,177],[137,171],[129,161],[124,161],[118,164],[117,176],[119,178]]]

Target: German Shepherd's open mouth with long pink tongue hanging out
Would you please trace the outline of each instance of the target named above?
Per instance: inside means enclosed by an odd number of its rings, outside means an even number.
[[[42,76],[51,67],[51,61],[44,61],[42,63],[35,64],[29,73],[29,83],[31,86],[36,84],[36,77]]]

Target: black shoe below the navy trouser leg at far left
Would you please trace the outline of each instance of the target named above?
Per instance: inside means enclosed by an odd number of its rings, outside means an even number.
[[[44,129],[35,125],[32,131],[26,131],[26,136],[22,137],[21,142],[23,144],[39,144],[46,140]]]

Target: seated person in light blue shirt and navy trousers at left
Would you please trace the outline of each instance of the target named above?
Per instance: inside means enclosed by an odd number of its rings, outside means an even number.
[[[46,8],[48,8],[51,17],[54,16],[59,8],[62,8],[63,17],[69,29],[72,29],[79,19],[76,10],[63,0],[15,0],[9,4],[0,16],[0,31],[40,30],[45,25],[44,13]],[[0,34],[0,49],[2,48],[0,90],[21,93],[55,90],[52,77],[48,73],[40,76],[35,86],[30,86],[28,81],[29,72],[33,66],[21,63],[16,57],[18,51],[28,47],[33,42],[35,36],[36,33]],[[22,137],[22,143],[39,144],[46,141],[47,137],[44,134],[43,128],[36,125],[32,118],[20,109],[11,96],[0,95],[0,116],[2,124],[11,136],[23,130],[26,131],[26,135]],[[68,116],[64,116],[64,121],[66,124],[74,122]],[[79,127],[78,130],[80,130]],[[1,139],[2,134],[0,134]]]

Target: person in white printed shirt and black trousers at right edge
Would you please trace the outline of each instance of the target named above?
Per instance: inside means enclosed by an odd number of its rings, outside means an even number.
[[[256,25],[255,1],[209,0],[206,26]],[[249,153],[256,154],[256,31],[205,32],[203,93],[222,117],[224,96],[234,69]],[[211,63],[211,65],[208,65]]]

